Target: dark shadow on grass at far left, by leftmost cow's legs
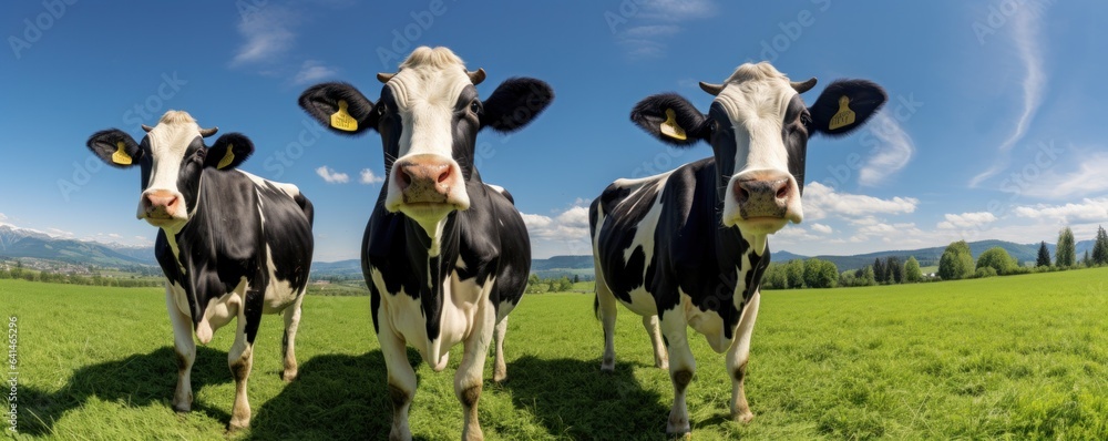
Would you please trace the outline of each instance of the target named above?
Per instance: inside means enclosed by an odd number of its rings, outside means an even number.
[[[95,397],[103,401],[124,402],[143,407],[162,403],[170,407],[177,386],[177,356],[166,346],[150,353],[133,355],[114,361],[78,369],[58,392],[49,393],[33,387],[19,391],[20,432],[44,435],[65,412],[84,406]],[[193,391],[208,384],[233,381],[227,370],[227,352],[206,347],[196,348],[193,366]],[[194,400],[193,412],[203,412],[220,421],[230,421],[229,410],[214,408]]]

